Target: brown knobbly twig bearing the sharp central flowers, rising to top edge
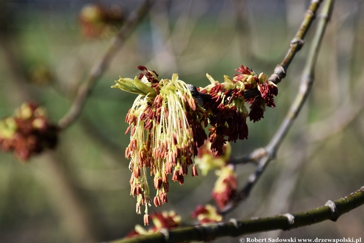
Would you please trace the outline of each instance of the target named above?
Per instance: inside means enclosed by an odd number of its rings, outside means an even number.
[[[287,69],[289,65],[291,64],[293,58],[295,57],[296,53],[301,50],[301,48],[304,45],[304,37],[306,33],[308,32],[308,29],[310,28],[317,10],[320,7],[320,4],[323,2],[323,0],[311,0],[311,5],[306,11],[305,18],[298,29],[295,37],[292,39],[290,44],[290,49],[286,55],[286,57],[283,59],[280,65],[277,65],[277,67],[274,70],[274,73],[270,75],[269,81],[273,82],[275,84],[278,84],[282,81],[282,79],[286,76]],[[244,93],[244,98],[249,99],[252,97],[255,97],[259,95],[258,89],[254,89],[248,92]]]

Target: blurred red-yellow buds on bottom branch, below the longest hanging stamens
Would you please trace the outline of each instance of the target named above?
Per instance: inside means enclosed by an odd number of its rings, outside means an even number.
[[[174,211],[154,212],[150,215],[150,219],[154,226],[146,230],[141,225],[137,224],[135,225],[135,228],[126,235],[126,238],[152,234],[160,231],[161,229],[174,229],[181,224],[181,217]]]

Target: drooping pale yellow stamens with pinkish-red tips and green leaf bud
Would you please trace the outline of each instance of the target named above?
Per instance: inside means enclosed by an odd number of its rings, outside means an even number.
[[[153,203],[161,206],[168,201],[169,175],[181,185],[188,167],[192,166],[192,176],[197,175],[193,158],[207,136],[202,126],[205,111],[177,74],[160,79],[155,71],[138,68],[145,73],[134,79],[120,77],[112,88],[139,95],[125,119],[129,124],[126,133],[130,132],[125,156],[130,159],[130,194],[137,197],[136,213],[140,214],[141,205],[145,205],[144,223],[148,224],[151,199],[147,168],[157,189]]]

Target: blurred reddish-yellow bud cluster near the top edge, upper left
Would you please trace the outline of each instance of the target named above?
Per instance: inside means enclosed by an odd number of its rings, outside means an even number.
[[[124,15],[119,6],[105,8],[96,4],[88,4],[81,9],[79,21],[83,36],[87,38],[107,37],[117,31],[124,21]]]

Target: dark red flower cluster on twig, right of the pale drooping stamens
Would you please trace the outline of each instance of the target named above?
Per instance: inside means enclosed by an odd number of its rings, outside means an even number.
[[[240,74],[235,74],[233,79],[224,75],[223,83],[206,74],[211,85],[199,89],[201,93],[211,96],[211,100],[204,103],[203,107],[206,110],[205,117],[211,125],[209,138],[215,155],[222,153],[222,146],[226,141],[247,139],[247,117],[254,122],[260,120],[265,110],[264,105],[275,106],[273,96],[278,94],[277,86],[268,82],[264,73],[257,75],[243,65],[236,70]],[[260,96],[244,99],[244,92],[255,88],[260,91]],[[245,101],[252,104],[250,112],[244,105]]]

